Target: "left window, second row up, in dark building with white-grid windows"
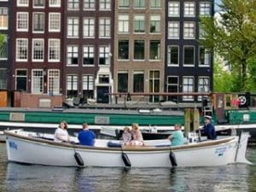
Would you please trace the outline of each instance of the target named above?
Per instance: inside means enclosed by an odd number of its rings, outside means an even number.
[[[27,61],[27,38],[16,39],[16,61]]]

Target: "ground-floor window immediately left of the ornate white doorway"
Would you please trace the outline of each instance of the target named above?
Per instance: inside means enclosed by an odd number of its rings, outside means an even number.
[[[83,96],[84,98],[94,98],[93,75],[83,75]]]

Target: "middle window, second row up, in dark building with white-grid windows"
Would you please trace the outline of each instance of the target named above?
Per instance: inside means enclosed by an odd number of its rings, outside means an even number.
[[[32,39],[32,61],[44,61],[44,39]]]

